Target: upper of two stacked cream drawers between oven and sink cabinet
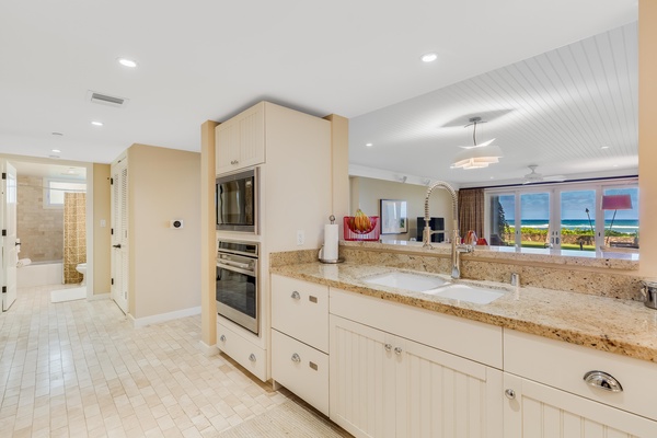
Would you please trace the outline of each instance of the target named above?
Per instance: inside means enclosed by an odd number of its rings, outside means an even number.
[[[328,287],[272,275],[272,326],[328,353]]]

